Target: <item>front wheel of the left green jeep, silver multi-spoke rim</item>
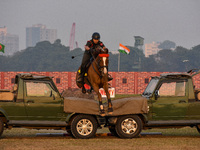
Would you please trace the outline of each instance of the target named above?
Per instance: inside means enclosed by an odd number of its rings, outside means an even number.
[[[75,138],[88,139],[97,131],[97,121],[90,115],[78,115],[71,122],[71,132]]]

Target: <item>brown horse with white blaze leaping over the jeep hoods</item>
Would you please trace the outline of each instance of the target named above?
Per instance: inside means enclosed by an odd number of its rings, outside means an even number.
[[[94,60],[88,68],[87,76],[84,77],[84,83],[90,85],[91,89],[93,89],[98,95],[99,110],[101,116],[105,116],[105,110],[102,103],[101,94],[99,93],[99,89],[103,88],[105,90],[108,101],[108,114],[111,115],[113,113],[113,108],[112,108],[110,94],[108,92],[109,54],[108,51],[105,51],[100,47],[96,49],[97,51],[99,51],[100,49],[100,54],[96,58],[94,56],[94,53],[92,54]],[[79,76],[79,70],[77,71],[76,74],[76,80],[78,79]],[[84,92],[86,91],[82,83],[76,82],[76,84],[79,88],[82,88],[82,91]]]

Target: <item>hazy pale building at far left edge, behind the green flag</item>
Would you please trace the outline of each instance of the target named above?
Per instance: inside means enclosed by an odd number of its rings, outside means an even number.
[[[3,55],[12,55],[19,51],[19,36],[7,33],[7,27],[5,26],[0,27],[0,43],[5,45],[5,53]]]

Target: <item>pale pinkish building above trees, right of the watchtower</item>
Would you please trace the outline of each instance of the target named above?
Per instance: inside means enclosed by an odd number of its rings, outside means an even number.
[[[145,44],[145,57],[149,57],[149,55],[157,54],[161,49],[158,48],[160,45],[159,42],[152,42]]]

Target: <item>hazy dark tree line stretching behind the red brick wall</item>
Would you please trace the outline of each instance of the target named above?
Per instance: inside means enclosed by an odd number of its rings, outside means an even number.
[[[163,42],[164,43],[164,42]],[[120,71],[188,71],[199,68],[200,45],[188,50],[181,46],[175,50],[163,49],[158,54],[145,57],[135,47],[127,46],[130,54],[120,54]],[[37,43],[35,47],[15,53],[13,56],[0,55],[0,71],[77,71],[84,51],[80,48],[69,50],[57,39]],[[118,71],[119,54],[109,53],[109,71]],[[76,56],[72,59],[72,56]]]

